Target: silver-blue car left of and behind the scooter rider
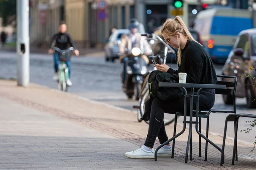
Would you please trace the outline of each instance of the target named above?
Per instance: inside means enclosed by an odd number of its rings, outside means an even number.
[[[105,60],[114,61],[119,58],[119,45],[121,43],[122,34],[128,34],[128,29],[117,29],[108,39],[105,45]]]

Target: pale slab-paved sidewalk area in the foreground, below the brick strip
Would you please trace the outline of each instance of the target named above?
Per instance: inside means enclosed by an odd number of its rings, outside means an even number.
[[[0,170],[199,170],[175,159],[128,159],[137,145],[0,98]]]

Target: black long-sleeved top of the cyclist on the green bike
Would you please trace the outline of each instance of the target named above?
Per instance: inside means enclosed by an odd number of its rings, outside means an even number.
[[[52,43],[51,43],[51,48],[53,47],[58,47],[61,50],[66,50],[67,48],[73,47],[74,49],[76,49],[75,44],[73,42],[73,40],[70,37],[70,34],[68,33],[57,33],[54,34],[54,36],[52,37]]]

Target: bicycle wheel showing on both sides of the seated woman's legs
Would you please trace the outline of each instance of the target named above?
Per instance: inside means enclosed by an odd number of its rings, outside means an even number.
[[[150,97],[149,91],[146,90],[140,99],[140,115],[141,116],[143,116],[143,114],[145,113],[145,102],[149,99],[149,97]],[[174,121],[175,121],[175,114],[164,113],[164,119],[163,119],[164,125],[169,125]],[[145,122],[149,124],[149,121],[145,121]]]

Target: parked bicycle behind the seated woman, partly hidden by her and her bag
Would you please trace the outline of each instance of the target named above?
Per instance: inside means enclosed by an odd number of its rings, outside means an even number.
[[[166,47],[165,47],[165,50],[164,50],[164,60],[162,58],[160,58],[160,55],[157,54],[157,55],[153,55],[153,56],[149,56],[150,58],[150,61],[153,60],[159,64],[161,63],[166,63],[166,57],[167,57],[167,54],[168,53],[175,53],[175,51],[173,51],[172,48],[169,47],[169,45],[167,45],[159,36],[155,35],[155,34],[142,34],[142,36],[147,36],[147,39],[148,40],[160,40],[160,42],[162,42]],[[156,39],[157,38],[157,39]],[[154,70],[156,70],[156,68],[154,68]],[[150,74],[151,71],[148,72],[148,77],[149,77],[149,74]],[[149,94],[149,91],[148,91],[148,79],[146,80],[147,82],[143,83],[145,84],[145,88],[142,90],[142,94],[140,95],[140,99],[139,99],[139,106],[133,106],[133,108],[137,108],[137,120],[138,122],[142,122],[142,119],[140,119],[143,114],[145,113],[145,102],[149,99],[150,97],[150,94]],[[166,119],[164,119],[164,125],[169,125],[171,124],[172,122],[175,121],[175,115],[172,115],[172,114],[168,114],[166,113],[165,116],[164,116]],[[147,124],[149,124],[149,121],[145,121]]]

